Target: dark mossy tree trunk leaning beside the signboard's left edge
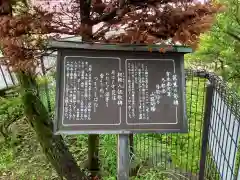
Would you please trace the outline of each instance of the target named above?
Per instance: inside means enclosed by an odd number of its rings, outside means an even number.
[[[62,137],[53,134],[53,122],[39,99],[34,78],[21,73],[19,79],[23,90],[22,99],[27,120],[35,130],[47,159],[51,162],[58,175],[67,180],[88,179],[78,167]]]

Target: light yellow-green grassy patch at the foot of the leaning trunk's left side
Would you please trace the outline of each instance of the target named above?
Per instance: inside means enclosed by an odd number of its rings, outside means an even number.
[[[12,124],[17,143],[0,141],[0,179],[57,180],[51,164],[46,160],[36,135],[24,119]],[[12,137],[12,136],[11,136]]]

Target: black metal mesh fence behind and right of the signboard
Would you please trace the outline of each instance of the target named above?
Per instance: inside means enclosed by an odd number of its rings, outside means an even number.
[[[47,77],[43,80],[41,98],[52,111],[54,71],[47,75],[43,62],[41,69],[43,77]],[[4,73],[1,75],[7,85],[7,77]],[[216,75],[194,70],[186,70],[186,94],[189,133],[129,135],[130,175],[147,179],[144,177],[151,172],[152,179],[164,180],[240,179],[239,96]],[[100,138],[100,149],[105,152],[100,153],[100,160],[107,161],[104,168],[116,173],[113,170],[116,169],[117,155],[113,151],[116,136],[100,135]],[[108,142],[109,147],[104,142]],[[106,153],[108,149],[114,158]],[[115,163],[114,167],[109,167],[110,161]]]

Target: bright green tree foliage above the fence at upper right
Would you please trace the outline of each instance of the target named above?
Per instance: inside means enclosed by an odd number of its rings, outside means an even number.
[[[201,36],[200,46],[188,55],[189,63],[202,62],[225,80],[239,84],[240,59],[240,2],[220,0],[228,10],[217,16],[211,31]]]

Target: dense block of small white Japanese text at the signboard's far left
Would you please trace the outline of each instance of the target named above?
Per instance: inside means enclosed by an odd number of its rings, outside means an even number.
[[[92,83],[92,65],[84,61],[68,61],[65,71],[65,118],[68,120],[91,120],[91,92],[94,85]]]

